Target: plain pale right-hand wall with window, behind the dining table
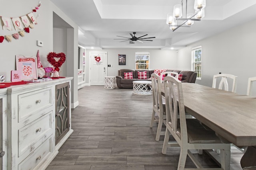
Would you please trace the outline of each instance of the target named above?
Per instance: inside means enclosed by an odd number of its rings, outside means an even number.
[[[256,20],[250,21],[180,49],[178,67],[189,68],[191,48],[202,45],[202,80],[196,83],[212,86],[214,74],[233,74],[238,76],[236,92],[246,94],[248,78],[256,76],[255,27]]]

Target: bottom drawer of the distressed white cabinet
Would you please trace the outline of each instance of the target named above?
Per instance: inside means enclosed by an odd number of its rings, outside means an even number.
[[[38,149],[18,165],[18,170],[33,170],[46,156],[52,152],[52,136],[49,137]]]

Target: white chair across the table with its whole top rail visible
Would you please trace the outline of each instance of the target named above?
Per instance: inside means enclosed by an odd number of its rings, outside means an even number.
[[[227,78],[230,78],[233,80],[233,83],[232,83],[232,90],[231,92],[236,92],[236,80],[237,80],[237,76],[234,76],[232,74],[216,74],[213,76],[213,81],[212,81],[212,88],[216,88],[216,80],[217,78],[221,78],[220,80],[220,84],[218,86],[218,89],[222,90],[223,86],[224,86],[224,90],[228,91],[228,80]]]

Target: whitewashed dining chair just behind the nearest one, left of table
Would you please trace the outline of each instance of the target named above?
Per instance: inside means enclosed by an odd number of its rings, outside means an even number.
[[[160,76],[156,73],[151,74],[151,82],[152,82],[152,96],[153,96],[153,112],[150,121],[150,128],[153,127],[153,123],[157,122],[158,127],[156,131],[156,141],[159,141],[160,135],[164,135],[164,131],[162,130],[163,123],[166,124],[166,114],[165,112],[165,104],[162,100],[162,94],[159,90],[160,84]]]

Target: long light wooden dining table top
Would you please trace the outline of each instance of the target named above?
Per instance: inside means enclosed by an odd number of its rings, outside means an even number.
[[[182,83],[182,91],[187,113],[236,146],[256,145],[256,97],[194,83]]]

